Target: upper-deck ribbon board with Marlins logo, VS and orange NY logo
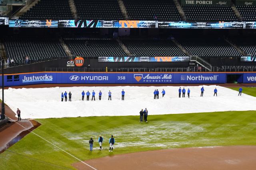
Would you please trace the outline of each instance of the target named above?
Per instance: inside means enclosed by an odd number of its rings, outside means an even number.
[[[9,27],[58,27],[58,20],[9,20]]]

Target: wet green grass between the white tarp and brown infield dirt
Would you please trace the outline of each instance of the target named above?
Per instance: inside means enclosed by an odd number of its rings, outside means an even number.
[[[43,114],[43,113],[42,113]],[[138,116],[76,117],[37,119],[42,123],[33,132],[81,160],[145,150],[256,145],[256,112],[227,111],[173,115],[149,115],[148,123]],[[108,139],[116,140],[114,152],[108,152]],[[103,148],[88,141],[104,137]],[[0,169],[65,169],[78,160],[30,133],[0,154]]]

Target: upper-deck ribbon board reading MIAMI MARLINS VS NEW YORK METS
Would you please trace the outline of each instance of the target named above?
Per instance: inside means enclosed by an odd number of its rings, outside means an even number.
[[[244,28],[244,22],[158,21],[158,28]]]

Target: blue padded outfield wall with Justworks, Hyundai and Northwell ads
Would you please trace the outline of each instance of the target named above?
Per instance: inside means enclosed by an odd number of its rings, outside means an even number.
[[[240,83],[256,83],[256,72],[33,72],[6,74],[4,84],[220,84],[228,74],[239,74]]]

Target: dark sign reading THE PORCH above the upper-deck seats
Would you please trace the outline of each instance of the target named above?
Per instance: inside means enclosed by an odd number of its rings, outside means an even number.
[[[181,5],[230,5],[231,0],[180,0]]]

